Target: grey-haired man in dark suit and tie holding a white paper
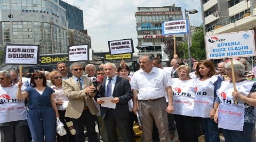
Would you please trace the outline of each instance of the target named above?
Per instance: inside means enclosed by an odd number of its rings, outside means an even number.
[[[115,109],[100,107],[101,117],[103,118],[109,142],[118,141],[116,127],[119,129],[125,142],[132,141],[132,135],[129,131],[129,106],[128,102],[132,99],[131,85],[127,79],[116,75],[116,66],[112,63],[104,65],[104,71],[107,77],[100,85],[98,97],[113,96],[111,102],[116,103]],[[99,104],[104,101],[97,100]]]

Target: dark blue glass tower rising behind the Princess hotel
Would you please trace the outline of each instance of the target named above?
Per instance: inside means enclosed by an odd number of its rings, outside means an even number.
[[[83,11],[78,7],[70,5],[60,0],[60,6],[66,9],[66,20],[68,21],[68,29],[77,31],[84,30]]]

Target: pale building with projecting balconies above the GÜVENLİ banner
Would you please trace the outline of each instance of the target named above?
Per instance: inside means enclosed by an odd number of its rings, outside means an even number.
[[[245,31],[255,28],[256,1],[201,0],[205,35]]]

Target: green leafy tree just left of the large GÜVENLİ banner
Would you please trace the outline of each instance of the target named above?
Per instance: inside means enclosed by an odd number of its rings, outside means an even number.
[[[205,40],[203,26],[196,28],[192,35],[192,46],[190,48],[191,58],[196,60],[205,59]]]

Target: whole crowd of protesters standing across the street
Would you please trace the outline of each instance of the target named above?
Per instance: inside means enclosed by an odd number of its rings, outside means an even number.
[[[124,60],[98,68],[60,62],[52,72],[21,78],[17,70],[2,70],[1,141],[169,142],[177,130],[179,141],[197,142],[201,126],[206,142],[220,141],[220,132],[228,142],[254,141],[256,69],[245,58],[233,62],[234,75],[230,60],[217,66],[195,60],[190,72],[178,55],[171,67],[142,55],[133,74]],[[57,134],[57,117],[66,135]]]

